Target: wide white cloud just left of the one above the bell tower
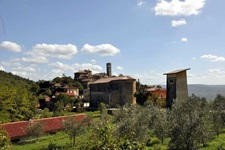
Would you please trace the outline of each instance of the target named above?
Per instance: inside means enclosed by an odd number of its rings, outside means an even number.
[[[53,57],[60,59],[71,59],[76,54],[77,47],[72,44],[59,45],[59,44],[36,44],[30,52],[32,57]]]

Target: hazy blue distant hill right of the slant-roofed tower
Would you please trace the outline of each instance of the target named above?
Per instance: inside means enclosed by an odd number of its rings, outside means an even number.
[[[208,101],[212,101],[217,94],[225,96],[225,85],[190,84],[188,85],[188,93],[189,95],[195,94],[199,97],[205,97]]]

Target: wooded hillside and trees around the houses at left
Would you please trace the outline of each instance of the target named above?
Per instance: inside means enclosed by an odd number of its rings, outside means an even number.
[[[52,81],[39,80],[34,82],[22,78],[12,73],[0,71],[0,123],[29,120],[38,113],[37,105],[39,100],[55,95],[54,83],[69,85],[79,88],[79,93],[83,94],[83,86],[80,82],[74,82],[71,77],[56,77]],[[63,111],[69,105],[71,111],[74,103],[79,108],[80,99],[59,94],[56,97],[53,116],[63,115]],[[43,117],[50,117],[49,110],[46,108]]]

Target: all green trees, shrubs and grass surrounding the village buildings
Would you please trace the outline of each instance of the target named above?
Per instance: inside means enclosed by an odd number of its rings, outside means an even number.
[[[10,73],[0,73],[6,79],[0,80],[0,90],[3,91],[0,93],[1,122],[28,120],[35,115],[36,96],[51,95],[54,92],[48,85],[49,82],[35,84]],[[19,84],[15,82],[15,78]],[[54,81],[70,84],[72,80],[63,77]],[[175,100],[172,109],[167,110],[159,107],[156,98],[149,97],[149,93],[140,90],[136,94],[142,105],[124,105],[109,115],[107,106],[100,103],[99,111],[85,112],[90,116],[88,125],[87,122],[68,119],[64,122],[64,132],[55,135],[40,137],[42,125],[30,122],[27,132],[38,140],[10,146],[8,135],[0,129],[0,144],[4,148],[23,150],[225,149],[224,96],[217,95],[213,102],[207,102],[205,98],[192,95],[187,99]],[[40,117],[71,113],[70,106],[74,103],[78,109],[79,99],[70,99],[59,94],[55,99],[53,112],[44,109]]]

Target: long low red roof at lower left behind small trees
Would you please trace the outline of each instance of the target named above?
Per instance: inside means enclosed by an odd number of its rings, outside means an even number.
[[[87,117],[86,114],[78,114],[74,116],[59,116],[59,117],[52,117],[52,118],[43,118],[32,120],[34,122],[43,122],[43,129],[45,132],[57,131],[62,129],[63,120],[68,117],[74,117],[78,121],[82,121],[84,118]],[[29,121],[19,121],[19,122],[11,122],[0,124],[3,129],[8,132],[8,135],[11,139],[20,138],[27,135],[26,127],[29,124]]]

